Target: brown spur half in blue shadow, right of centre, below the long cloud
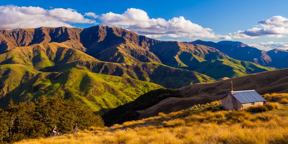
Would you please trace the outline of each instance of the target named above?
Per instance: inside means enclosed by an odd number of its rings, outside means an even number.
[[[185,69],[194,69],[202,61],[229,58],[209,46],[177,41],[162,41],[150,46],[150,51],[156,54],[163,64]]]

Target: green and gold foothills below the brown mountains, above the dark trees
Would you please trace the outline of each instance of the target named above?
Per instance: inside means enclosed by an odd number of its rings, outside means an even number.
[[[95,113],[133,101],[158,88],[180,88],[214,79],[159,63],[101,62],[63,43],[16,47],[0,54],[0,107],[39,96],[76,98]],[[160,86],[160,85],[162,86]]]

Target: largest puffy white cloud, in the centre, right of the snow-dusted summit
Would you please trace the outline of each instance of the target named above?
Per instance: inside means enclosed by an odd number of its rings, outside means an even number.
[[[167,21],[163,18],[149,18],[145,11],[135,8],[129,8],[123,14],[113,12],[101,14],[98,18],[103,24],[120,26],[149,37],[231,39],[228,35],[215,35],[212,29],[203,28],[183,16]]]

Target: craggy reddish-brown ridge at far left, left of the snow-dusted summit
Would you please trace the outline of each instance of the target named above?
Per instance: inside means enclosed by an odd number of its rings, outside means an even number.
[[[83,29],[67,27],[40,27],[37,29],[0,29],[0,52],[19,46],[30,46],[35,43],[45,44],[50,42],[64,43],[67,46],[85,51],[80,43],[79,34]]]

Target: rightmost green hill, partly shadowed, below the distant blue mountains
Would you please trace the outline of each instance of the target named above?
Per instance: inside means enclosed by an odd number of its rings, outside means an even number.
[[[214,79],[222,77],[238,77],[263,71],[276,70],[273,67],[263,67],[253,62],[240,61],[235,59],[217,59],[201,62],[197,71],[199,73],[213,77]],[[207,71],[209,69],[209,71]]]

